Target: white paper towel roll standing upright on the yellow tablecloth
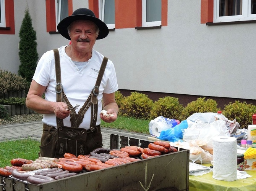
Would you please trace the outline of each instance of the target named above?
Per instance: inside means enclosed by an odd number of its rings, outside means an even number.
[[[237,180],[237,139],[235,137],[213,138],[212,178],[224,181]]]

